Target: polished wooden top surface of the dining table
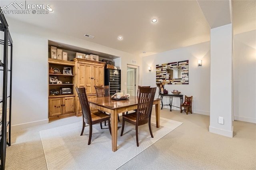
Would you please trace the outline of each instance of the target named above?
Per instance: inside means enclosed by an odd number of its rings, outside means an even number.
[[[160,99],[154,99],[154,101]],[[93,103],[98,106],[104,106],[108,109],[118,109],[122,107],[132,106],[138,104],[137,96],[130,96],[129,99],[125,100],[115,100],[111,99],[111,96],[108,97],[94,97],[92,99],[88,99],[89,103]]]

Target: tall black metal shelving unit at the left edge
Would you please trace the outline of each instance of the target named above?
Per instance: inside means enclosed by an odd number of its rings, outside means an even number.
[[[0,40],[0,45],[3,45],[3,51],[0,53],[0,74],[3,76],[3,81],[0,81],[0,87],[2,88],[2,99],[0,99],[0,105],[2,107],[2,119],[0,119],[0,169],[5,169],[5,158],[6,158],[6,146],[11,145],[11,108],[12,108],[12,38],[8,30],[8,24],[0,10],[0,34],[4,34],[3,40]],[[2,36],[1,36],[2,39]],[[8,57],[8,52],[10,55]],[[10,63],[9,63],[10,62]],[[8,65],[9,64],[9,65]],[[9,68],[8,68],[9,66]],[[9,94],[8,94],[9,93]],[[9,107],[9,120],[7,121],[7,106]],[[6,139],[8,128],[8,141]]]

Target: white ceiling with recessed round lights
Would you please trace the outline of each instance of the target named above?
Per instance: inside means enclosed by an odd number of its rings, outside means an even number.
[[[204,4],[215,5],[214,1],[204,1]],[[1,0],[0,5],[10,2],[13,1]],[[27,0],[26,3],[50,4],[54,12],[4,14],[7,21],[10,17],[141,57],[209,41],[210,26],[218,26],[226,16],[230,18],[229,11],[212,5],[215,13],[220,10],[208,23],[206,18],[211,17],[208,15],[211,11],[204,11],[202,1],[199,6],[196,0]],[[232,11],[234,34],[256,30],[255,0],[232,0]],[[153,18],[158,22],[152,24]],[[95,38],[84,37],[84,34]],[[118,40],[118,36],[123,40]]]

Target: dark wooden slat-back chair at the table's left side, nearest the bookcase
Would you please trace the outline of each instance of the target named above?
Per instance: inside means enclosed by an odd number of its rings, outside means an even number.
[[[86,96],[85,88],[78,88],[76,87],[76,91],[78,93],[78,98],[80,101],[80,105],[82,108],[82,114],[83,114],[83,128],[80,136],[84,133],[84,127],[86,126],[86,123],[90,126],[90,132],[89,132],[89,141],[88,145],[91,144],[92,140],[92,125],[96,123],[101,123],[103,121],[108,121],[108,128],[111,134],[111,127],[110,127],[110,115],[103,113],[102,111],[98,111],[96,113],[91,113],[90,106],[88,103],[88,99]],[[102,128],[102,125],[101,125]]]

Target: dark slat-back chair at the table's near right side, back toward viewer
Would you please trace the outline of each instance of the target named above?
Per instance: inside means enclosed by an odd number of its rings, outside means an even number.
[[[156,93],[156,87],[150,88],[150,87],[140,87],[139,92],[139,98],[138,98],[138,106],[137,110],[134,113],[130,113],[128,115],[123,115],[123,121],[122,121],[122,131],[121,136],[124,132],[124,123],[129,122],[133,125],[135,125],[136,129],[136,142],[137,146],[139,146],[139,140],[138,140],[138,126],[144,125],[148,123],[150,135],[152,138],[154,138],[151,130],[151,113],[152,113],[152,106],[153,101]]]

